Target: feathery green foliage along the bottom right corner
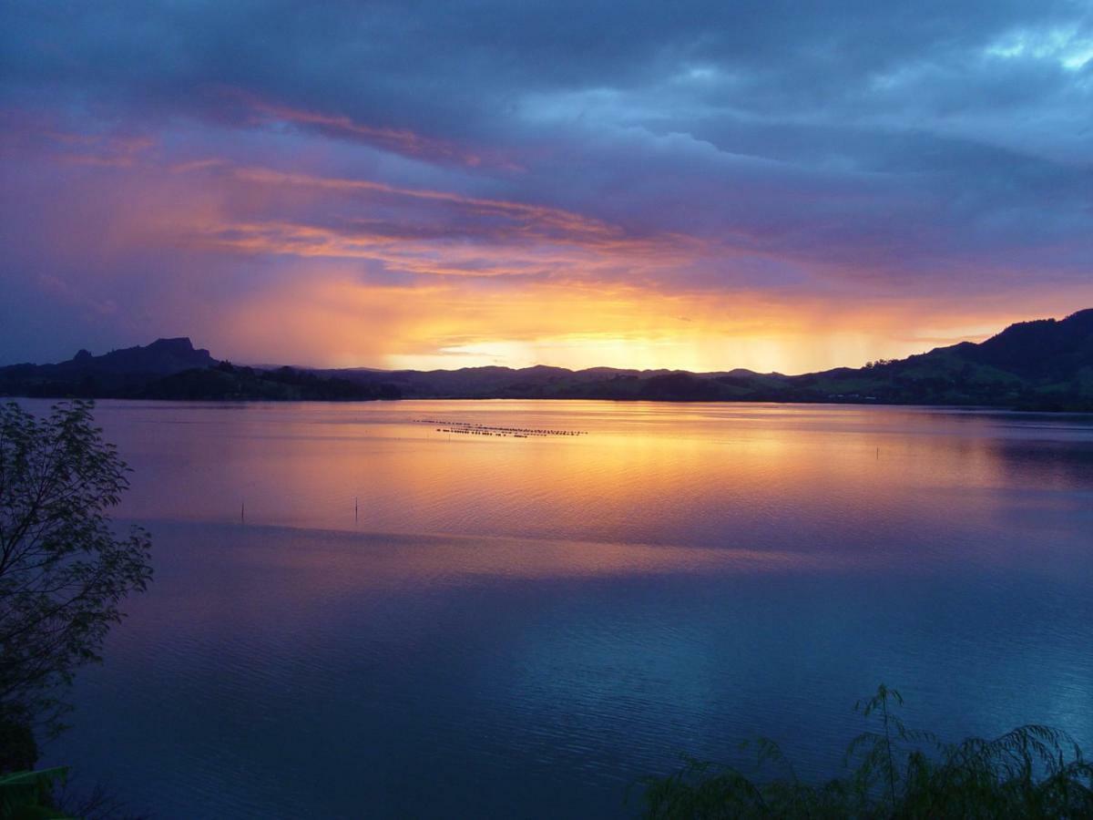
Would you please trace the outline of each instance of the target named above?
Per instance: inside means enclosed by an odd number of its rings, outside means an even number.
[[[777,745],[761,740],[756,766],[778,766],[778,776],[752,778],[686,758],[679,771],[642,781],[645,817],[1093,817],[1093,764],[1066,733],[1030,725],[992,740],[944,743],[908,729],[896,715],[902,705],[900,693],[883,684],[856,704],[874,727],[850,742],[843,777],[803,783]]]

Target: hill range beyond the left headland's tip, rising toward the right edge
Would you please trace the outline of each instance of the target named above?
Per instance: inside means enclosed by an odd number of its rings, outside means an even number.
[[[1093,309],[1060,321],[1013,325],[978,344],[961,342],[903,360],[802,376],[543,366],[322,372],[392,384],[407,398],[834,401],[1093,411]]]

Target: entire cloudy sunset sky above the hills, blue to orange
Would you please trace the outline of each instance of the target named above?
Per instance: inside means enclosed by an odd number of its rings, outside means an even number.
[[[1093,306],[1093,3],[0,0],[0,363],[801,373]]]

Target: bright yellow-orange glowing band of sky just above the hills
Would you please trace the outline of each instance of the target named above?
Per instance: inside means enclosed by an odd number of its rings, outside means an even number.
[[[988,306],[972,316],[921,321],[907,306],[854,305],[836,313],[747,293],[712,298],[573,284],[497,292],[439,283],[408,296],[402,288],[313,279],[306,288],[250,300],[225,318],[222,344],[252,361],[804,373],[983,339],[1026,316]]]

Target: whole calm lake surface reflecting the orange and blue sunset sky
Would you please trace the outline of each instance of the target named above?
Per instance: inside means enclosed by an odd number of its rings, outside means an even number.
[[[45,401],[25,401],[37,410]],[[626,817],[681,752],[839,771],[900,689],[1093,752],[1093,420],[99,402],[155,581],[46,748],[134,811]],[[489,425],[579,435],[445,432]],[[482,427],[478,430],[482,431]]]

